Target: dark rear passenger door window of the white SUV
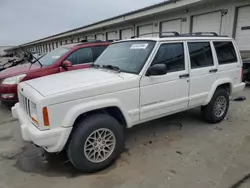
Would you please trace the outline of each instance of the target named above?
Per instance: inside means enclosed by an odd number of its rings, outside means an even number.
[[[209,42],[189,42],[188,48],[192,69],[214,65]]]

